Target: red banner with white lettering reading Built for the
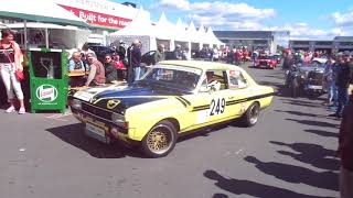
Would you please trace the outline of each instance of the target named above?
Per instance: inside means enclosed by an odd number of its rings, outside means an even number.
[[[60,6],[68,10],[69,12],[74,13],[78,18],[85,20],[87,23],[94,24],[94,25],[122,29],[131,22],[131,20],[125,19],[125,18],[93,12],[89,10],[83,10],[83,9],[77,9],[77,8],[62,6],[62,4]]]

